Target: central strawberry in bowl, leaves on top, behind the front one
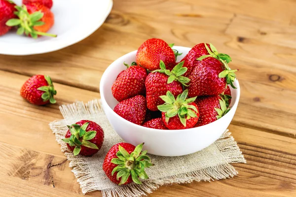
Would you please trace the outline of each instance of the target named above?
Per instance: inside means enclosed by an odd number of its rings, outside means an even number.
[[[182,67],[184,62],[175,66],[172,71],[165,69],[164,62],[160,61],[160,69],[150,72],[146,78],[146,99],[147,107],[151,111],[157,111],[157,105],[164,101],[159,96],[170,91],[175,97],[183,92],[182,85],[189,82],[187,77],[182,76],[187,70]]]

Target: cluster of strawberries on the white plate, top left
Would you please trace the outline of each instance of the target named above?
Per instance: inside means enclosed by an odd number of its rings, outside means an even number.
[[[56,37],[46,33],[54,24],[52,4],[52,0],[23,0],[23,5],[18,6],[12,0],[0,0],[0,35],[15,26],[19,35]]]

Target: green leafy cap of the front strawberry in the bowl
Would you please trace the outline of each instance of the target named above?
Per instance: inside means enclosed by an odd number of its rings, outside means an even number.
[[[178,95],[177,99],[175,99],[170,91],[167,91],[166,95],[160,96],[165,103],[158,105],[157,108],[159,111],[165,112],[165,121],[167,124],[170,118],[178,115],[180,122],[186,127],[186,120],[191,117],[197,117],[197,108],[194,105],[190,105],[196,97],[186,99],[187,96],[188,90],[185,90],[182,94]]]

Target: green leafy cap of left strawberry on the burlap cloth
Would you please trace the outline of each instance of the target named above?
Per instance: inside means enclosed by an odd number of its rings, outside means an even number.
[[[90,139],[93,139],[97,131],[85,131],[87,126],[89,125],[89,122],[84,123],[82,126],[73,124],[71,126],[67,125],[71,132],[70,138],[64,138],[62,139],[64,142],[69,144],[70,146],[75,146],[73,150],[74,156],[78,155],[81,151],[81,146],[85,146],[92,149],[99,149],[96,144],[91,143]]]

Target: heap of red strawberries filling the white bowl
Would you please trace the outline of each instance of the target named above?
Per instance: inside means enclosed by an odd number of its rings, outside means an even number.
[[[212,44],[195,45],[186,56],[161,39],[148,39],[136,62],[112,84],[114,112],[144,127],[180,130],[216,121],[229,110],[235,72],[231,58]]]

